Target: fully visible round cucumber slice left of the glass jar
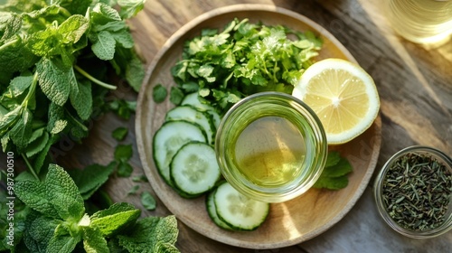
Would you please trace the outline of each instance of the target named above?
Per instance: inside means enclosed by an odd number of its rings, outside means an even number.
[[[221,177],[212,145],[189,142],[174,155],[170,164],[174,185],[189,195],[212,190]]]

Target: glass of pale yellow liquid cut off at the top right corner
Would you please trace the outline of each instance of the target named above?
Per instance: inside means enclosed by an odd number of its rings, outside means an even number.
[[[442,44],[452,35],[452,0],[389,0],[388,20],[411,42]]]

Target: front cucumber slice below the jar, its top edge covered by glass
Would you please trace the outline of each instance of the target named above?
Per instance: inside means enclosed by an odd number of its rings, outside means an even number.
[[[266,220],[270,206],[241,194],[227,182],[218,186],[213,201],[218,217],[233,230],[257,230]]]

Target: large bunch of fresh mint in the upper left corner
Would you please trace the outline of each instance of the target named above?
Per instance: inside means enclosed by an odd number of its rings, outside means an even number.
[[[38,177],[51,146],[88,136],[111,74],[144,77],[126,20],[145,0],[11,0],[0,6],[0,138]],[[113,8],[118,6],[119,11]],[[111,73],[110,73],[111,72]],[[46,163],[47,162],[47,163]]]

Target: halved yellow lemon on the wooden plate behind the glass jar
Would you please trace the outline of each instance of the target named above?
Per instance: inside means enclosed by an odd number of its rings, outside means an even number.
[[[303,73],[292,95],[315,111],[329,145],[361,135],[380,109],[372,77],[359,65],[341,59],[315,62]]]

